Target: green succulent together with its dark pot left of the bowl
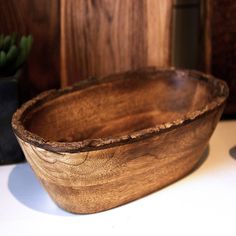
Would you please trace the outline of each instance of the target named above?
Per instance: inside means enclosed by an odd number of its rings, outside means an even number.
[[[0,165],[24,160],[11,129],[11,118],[19,105],[19,77],[31,45],[31,35],[0,35]]]

